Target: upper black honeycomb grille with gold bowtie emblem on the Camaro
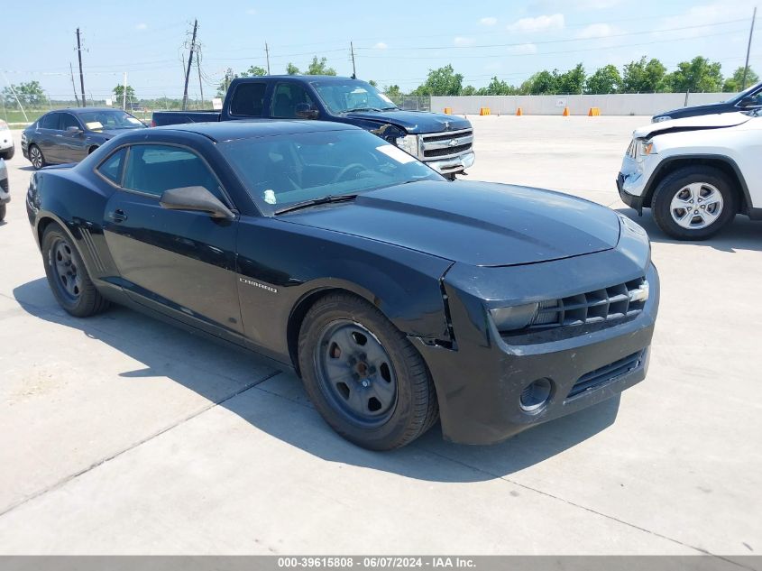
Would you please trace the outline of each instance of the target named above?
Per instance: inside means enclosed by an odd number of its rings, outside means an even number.
[[[635,292],[645,287],[646,278],[638,278],[603,290],[541,301],[528,327],[575,326],[629,318],[643,310],[646,301],[633,299],[637,299]]]

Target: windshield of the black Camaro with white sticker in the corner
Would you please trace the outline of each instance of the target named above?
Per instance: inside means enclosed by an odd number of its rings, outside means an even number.
[[[407,152],[367,131],[322,131],[218,145],[257,206],[282,207],[417,180],[444,180]]]

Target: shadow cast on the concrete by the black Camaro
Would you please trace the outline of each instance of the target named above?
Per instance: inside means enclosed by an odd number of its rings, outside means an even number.
[[[243,362],[242,370],[262,370],[269,366],[256,355],[213,341],[207,343],[203,337],[186,333],[131,309],[116,307],[94,318],[72,318],[56,304],[44,278],[15,288],[14,298],[27,313],[41,322],[69,327],[75,333],[98,339],[127,355],[130,360],[144,365],[134,371],[120,373],[123,379],[166,376],[209,401],[217,402],[253,427],[309,454],[330,462],[359,465],[420,480],[480,482],[513,474],[561,454],[611,426],[620,405],[618,396],[522,432],[500,444],[485,447],[445,442],[437,423],[436,427],[408,447],[373,453],[355,447],[336,435],[319,418],[308,402],[301,382],[293,373],[273,373],[267,381],[249,389],[246,387],[251,384],[251,378],[243,374],[234,375],[240,386],[221,398],[219,391],[213,391],[209,386],[208,373],[193,367],[194,362],[199,365],[215,362],[241,364],[241,359],[248,361]],[[157,347],[147,340],[147,332],[151,332],[151,339],[163,339],[166,346]],[[172,366],[171,355],[183,355],[191,366]],[[230,398],[231,395],[236,396]],[[277,409],[280,406],[282,410]]]

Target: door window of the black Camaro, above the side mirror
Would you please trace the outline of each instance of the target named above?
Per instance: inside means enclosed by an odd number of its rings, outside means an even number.
[[[211,170],[195,153],[161,144],[130,147],[124,170],[125,189],[138,190],[159,198],[164,190],[204,187],[226,201]]]

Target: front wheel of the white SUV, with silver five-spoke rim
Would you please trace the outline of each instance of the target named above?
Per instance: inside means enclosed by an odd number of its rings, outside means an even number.
[[[702,165],[685,167],[659,182],[651,210],[656,225],[666,235],[677,240],[706,240],[736,216],[738,194],[721,170]]]

